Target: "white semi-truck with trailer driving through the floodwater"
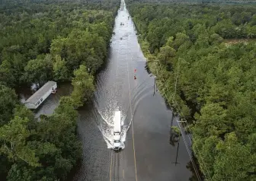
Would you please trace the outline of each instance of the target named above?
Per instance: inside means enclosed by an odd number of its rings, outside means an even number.
[[[121,148],[121,112],[115,111],[114,113],[114,150],[119,151]]]

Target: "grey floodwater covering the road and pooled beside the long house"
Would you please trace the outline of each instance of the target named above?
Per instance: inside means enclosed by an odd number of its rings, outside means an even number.
[[[177,141],[171,140],[171,120],[177,125],[176,119],[155,90],[155,76],[146,71],[146,59],[124,2],[115,19],[107,65],[96,81],[91,104],[79,109],[83,155],[72,180],[189,180],[193,176],[187,152],[190,142],[184,135],[178,148]],[[37,115],[53,113],[70,86],[58,90]],[[110,149],[115,110],[121,111],[123,124],[123,150],[118,153]]]

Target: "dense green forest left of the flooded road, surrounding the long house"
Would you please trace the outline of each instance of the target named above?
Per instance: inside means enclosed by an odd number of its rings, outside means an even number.
[[[94,92],[119,1],[0,4],[0,177],[65,180],[82,157],[76,109]],[[15,89],[72,81],[52,116],[34,119]]]

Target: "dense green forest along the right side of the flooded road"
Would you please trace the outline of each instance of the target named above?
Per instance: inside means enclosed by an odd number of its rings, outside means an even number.
[[[127,4],[204,178],[256,180],[256,6]]]

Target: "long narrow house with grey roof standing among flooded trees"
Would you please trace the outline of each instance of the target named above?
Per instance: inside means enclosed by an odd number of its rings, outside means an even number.
[[[57,88],[57,83],[55,81],[48,81],[43,87],[35,92],[30,98],[25,101],[25,106],[28,109],[37,109],[50,94],[55,93]]]

